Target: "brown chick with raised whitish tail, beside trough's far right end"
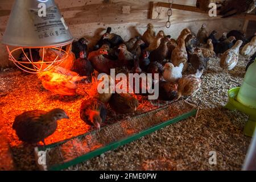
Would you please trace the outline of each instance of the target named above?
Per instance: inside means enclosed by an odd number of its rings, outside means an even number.
[[[196,74],[187,75],[177,82],[178,84],[178,93],[177,98],[179,99],[181,96],[192,96],[201,88],[201,76],[203,74],[203,70],[197,70]]]

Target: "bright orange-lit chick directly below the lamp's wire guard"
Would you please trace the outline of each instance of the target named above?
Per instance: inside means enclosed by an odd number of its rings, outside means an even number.
[[[38,78],[42,81],[45,89],[61,96],[73,96],[76,94],[76,82],[86,78],[80,77],[77,73],[67,71],[67,69],[56,67],[50,71],[38,73]]]

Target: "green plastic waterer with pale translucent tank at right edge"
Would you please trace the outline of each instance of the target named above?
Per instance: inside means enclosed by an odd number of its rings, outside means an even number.
[[[229,101],[226,108],[238,109],[248,114],[249,121],[245,125],[243,133],[252,137],[256,129],[256,62],[247,69],[245,79],[240,87],[228,91]]]

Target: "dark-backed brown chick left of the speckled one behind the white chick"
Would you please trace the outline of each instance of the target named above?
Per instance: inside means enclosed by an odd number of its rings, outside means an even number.
[[[168,55],[168,42],[170,42],[170,39],[167,37],[161,39],[159,47],[150,53],[150,61],[156,61],[160,64],[165,64],[164,60],[167,59]]]

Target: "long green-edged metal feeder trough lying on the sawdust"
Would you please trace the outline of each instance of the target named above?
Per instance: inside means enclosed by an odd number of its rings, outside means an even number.
[[[92,159],[119,146],[133,142],[163,127],[196,115],[197,110],[184,101],[112,123],[75,138],[35,148],[36,161],[45,155],[43,170],[61,170]]]

